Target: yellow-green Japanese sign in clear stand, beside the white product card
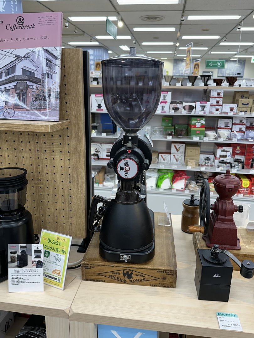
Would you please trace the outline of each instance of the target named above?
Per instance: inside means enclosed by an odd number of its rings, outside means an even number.
[[[71,236],[42,229],[40,244],[43,244],[44,283],[64,289]]]

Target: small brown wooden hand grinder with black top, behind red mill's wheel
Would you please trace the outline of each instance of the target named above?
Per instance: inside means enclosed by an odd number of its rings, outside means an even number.
[[[181,229],[188,234],[192,234],[188,227],[189,225],[199,224],[199,200],[195,199],[192,194],[190,199],[183,201],[183,207]]]

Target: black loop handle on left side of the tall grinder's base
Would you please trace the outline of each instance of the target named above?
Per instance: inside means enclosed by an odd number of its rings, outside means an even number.
[[[102,207],[99,207],[97,214],[97,206],[99,203],[103,203]],[[111,203],[111,198],[106,198],[99,195],[94,195],[91,203],[91,207],[88,215],[88,230],[91,232],[97,232],[100,229],[99,221],[103,217],[106,208]],[[94,221],[96,220],[96,224],[94,225]]]

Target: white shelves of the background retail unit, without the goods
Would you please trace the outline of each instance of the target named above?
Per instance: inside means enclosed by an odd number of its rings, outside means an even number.
[[[102,93],[102,85],[91,85],[91,93]],[[194,100],[203,100],[204,97],[208,94],[208,90],[224,90],[224,103],[230,103],[232,102],[233,98],[233,92],[234,91],[250,91],[251,93],[254,93],[254,87],[216,87],[216,86],[162,86],[162,90],[171,91],[171,99],[173,100],[181,100],[186,102],[194,102]],[[106,113],[106,112],[105,112]],[[98,114],[96,112],[92,112],[92,114]],[[149,125],[153,125],[153,121],[155,121],[154,125],[159,125],[160,118],[162,116],[170,116],[175,117],[181,124],[186,124],[187,117],[189,116],[203,116],[204,118],[209,118],[210,121],[214,121],[215,118],[225,118],[225,117],[235,117],[235,116],[245,116],[245,117],[252,117],[252,113],[249,115],[243,115],[242,113],[234,113],[234,114],[183,114],[183,113],[174,113],[174,114],[160,114],[157,113],[153,116],[153,118],[149,121]],[[185,122],[184,122],[185,121]],[[156,124],[157,123],[157,124]],[[213,123],[213,122],[212,122]],[[214,125],[214,124],[213,124]],[[106,134],[102,135],[100,133],[97,133],[96,135],[92,135],[92,142],[115,142],[115,140],[118,138],[117,134]],[[153,149],[158,149],[160,151],[170,151],[170,145],[171,142],[191,142],[195,144],[199,144],[200,146],[204,146],[205,151],[207,151],[207,148],[210,147],[214,143],[238,143],[238,144],[254,144],[253,140],[248,139],[228,139],[228,140],[221,140],[218,137],[214,140],[208,140],[205,137],[199,137],[199,138],[193,138],[193,137],[172,137],[171,139],[168,139],[166,137],[153,137],[151,136],[152,141],[154,142]],[[203,149],[202,149],[203,150]],[[106,166],[107,160],[98,160],[92,162],[92,167],[96,166]],[[185,165],[177,165],[173,166],[172,164],[152,164],[150,168],[165,168],[165,169],[177,169],[177,170],[186,170],[187,173],[190,175],[193,175],[195,172],[203,171],[203,168],[201,167],[187,167]],[[205,171],[205,170],[204,170]],[[223,170],[219,170],[219,168],[212,168],[207,170],[209,172],[216,172],[216,173],[223,173]],[[239,171],[232,170],[232,172],[242,173],[242,174],[254,174],[254,171],[252,169],[242,169]],[[100,186],[95,187],[95,191],[98,194],[101,194],[105,197],[110,197],[110,189]],[[165,199],[166,203],[170,205],[170,210],[174,210],[175,213],[181,214],[182,212],[182,200],[184,196],[186,196],[186,193],[191,193],[191,191],[186,190],[185,192],[175,192],[174,190],[168,190],[168,191],[160,191],[159,189],[155,190],[148,190],[148,205],[152,207],[153,211],[162,212],[163,211],[163,200]],[[198,193],[197,193],[198,195]],[[215,196],[215,195],[214,195]],[[211,198],[215,199],[212,195]],[[237,203],[251,203],[254,204],[254,198],[252,197],[243,197],[241,195],[235,196],[234,200],[237,201]],[[253,208],[252,208],[253,209]],[[250,212],[250,219],[254,219],[254,210]]]

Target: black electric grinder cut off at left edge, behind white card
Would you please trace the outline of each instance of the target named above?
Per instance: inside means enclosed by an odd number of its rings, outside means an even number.
[[[34,244],[32,215],[24,208],[27,171],[0,168],[0,282],[8,278],[8,244]]]

